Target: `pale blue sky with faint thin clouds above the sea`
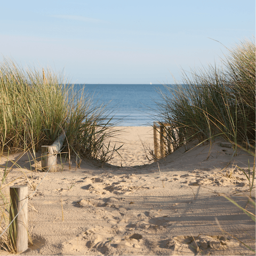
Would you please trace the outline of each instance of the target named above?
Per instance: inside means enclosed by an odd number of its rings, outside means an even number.
[[[1,1],[0,62],[71,83],[172,84],[255,37],[256,0]],[[218,42],[217,42],[218,41]],[[227,48],[226,48],[227,47]]]

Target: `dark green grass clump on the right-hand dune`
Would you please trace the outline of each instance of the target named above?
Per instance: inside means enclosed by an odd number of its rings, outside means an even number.
[[[222,67],[183,72],[182,84],[166,85],[167,93],[160,92],[163,101],[158,104],[161,121],[178,127],[184,141],[221,136],[234,148],[255,148],[255,47],[246,40],[229,50]]]

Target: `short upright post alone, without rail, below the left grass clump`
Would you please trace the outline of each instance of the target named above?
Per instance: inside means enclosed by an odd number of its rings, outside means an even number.
[[[56,146],[41,147],[42,171],[57,172],[57,150]]]

